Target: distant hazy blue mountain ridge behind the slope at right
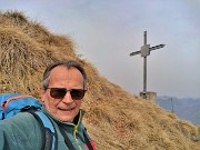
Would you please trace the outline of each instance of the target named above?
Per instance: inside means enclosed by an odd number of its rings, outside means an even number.
[[[200,126],[200,98],[158,97],[157,103],[163,109],[174,112],[180,119]]]

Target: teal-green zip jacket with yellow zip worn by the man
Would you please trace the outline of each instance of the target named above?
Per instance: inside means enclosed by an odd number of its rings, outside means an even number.
[[[42,111],[52,119],[56,127],[58,150],[69,150],[58,128],[58,123],[63,126],[64,132],[68,134],[76,150],[88,150],[83,138],[83,110],[80,110],[77,124],[62,122],[53,118],[44,108],[42,108]],[[29,112],[19,112],[12,118],[0,121],[0,150],[41,150],[42,138],[39,122]],[[90,138],[89,140],[91,141]],[[96,149],[92,141],[91,144]]]

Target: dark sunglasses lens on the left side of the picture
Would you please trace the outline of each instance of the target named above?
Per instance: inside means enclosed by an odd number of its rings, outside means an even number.
[[[66,96],[67,90],[60,88],[51,88],[50,96],[54,99],[62,99]]]

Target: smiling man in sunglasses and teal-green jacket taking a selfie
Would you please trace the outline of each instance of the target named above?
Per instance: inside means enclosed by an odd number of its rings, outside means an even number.
[[[86,82],[83,68],[72,60],[53,62],[43,73],[42,111],[56,128],[58,150],[96,149],[82,124],[84,111],[80,107]],[[0,122],[0,150],[40,150],[42,138],[39,122],[28,112]]]

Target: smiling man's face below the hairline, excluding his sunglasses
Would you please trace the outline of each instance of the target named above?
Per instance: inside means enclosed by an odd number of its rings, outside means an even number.
[[[59,66],[51,70],[48,88],[83,89],[83,77],[76,68],[67,69]],[[50,89],[41,90],[41,100],[53,117],[66,122],[73,121],[82,102],[82,100],[73,100],[70,91],[62,99],[52,98]]]

